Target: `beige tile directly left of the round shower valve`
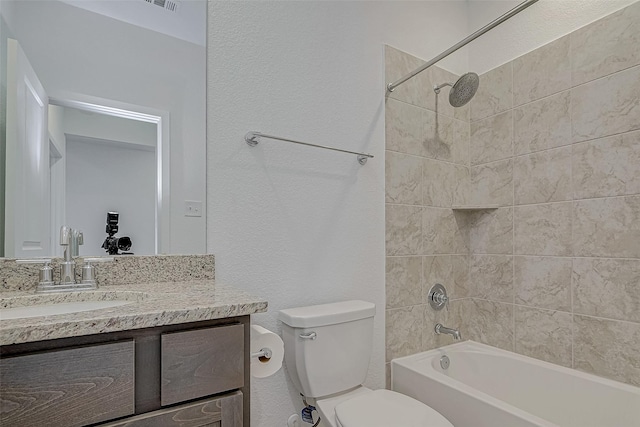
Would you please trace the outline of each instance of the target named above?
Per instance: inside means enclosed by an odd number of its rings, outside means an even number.
[[[422,299],[422,257],[387,257],[387,308],[415,305]]]

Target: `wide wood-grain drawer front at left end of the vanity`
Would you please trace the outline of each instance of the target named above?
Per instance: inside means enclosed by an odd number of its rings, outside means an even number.
[[[0,425],[81,426],[133,413],[133,340],[0,360]]]

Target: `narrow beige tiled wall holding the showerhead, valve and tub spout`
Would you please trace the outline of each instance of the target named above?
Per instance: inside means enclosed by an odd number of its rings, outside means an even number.
[[[386,81],[423,61],[385,49]],[[448,89],[435,84],[457,76],[431,67],[386,99],[386,360],[451,342],[436,336],[436,322],[452,318],[468,294],[468,233],[451,208],[469,197],[469,107],[454,109]],[[453,301],[435,312],[427,292],[444,283]],[[388,378],[388,377],[387,377]]]

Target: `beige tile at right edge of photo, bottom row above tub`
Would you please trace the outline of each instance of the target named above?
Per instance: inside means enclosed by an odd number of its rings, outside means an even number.
[[[640,323],[574,316],[574,368],[640,386]]]

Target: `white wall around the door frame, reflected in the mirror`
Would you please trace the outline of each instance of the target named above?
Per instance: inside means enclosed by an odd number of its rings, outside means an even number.
[[[185,217],[184,201],[205,197],[205,49],[57,1],[12,6],[8,25],[50,96],[170,112],[170,252],[204,253],[205,217]]]

